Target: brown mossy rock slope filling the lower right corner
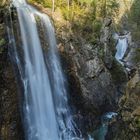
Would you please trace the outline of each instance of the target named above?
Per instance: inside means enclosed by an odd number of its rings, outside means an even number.
[[[109,129],[107,139],[140,139],[140,67],[128,82],[126,93],[119,102],[119,114]]]

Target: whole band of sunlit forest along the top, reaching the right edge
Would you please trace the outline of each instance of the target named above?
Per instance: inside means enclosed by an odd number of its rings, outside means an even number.
[[[137,38],[140,36],[139,32],[135,31],[140,25],[139,0],[28,0],[28,2],[50,9],[52,14],[59,12],[60,15],[61,12],[63,20],[70,25],[68,28],[85,36],[87,33],[86,40],[91,43],[98,41],[104,18],[111,18],[116,24],[114,24],[116,30],[122,28],[131,30],[131,25],[135,25],[136,27],[133,26],[132,29],[135,32],[134,36]],[[123,15],[119,16],[121,13]]]

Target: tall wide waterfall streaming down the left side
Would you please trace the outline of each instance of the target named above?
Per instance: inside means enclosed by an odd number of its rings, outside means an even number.
[[[17,9],[23,58],[17,50],[12,23],[7,30],[14,52],[11,55],[16,61],[23,84],[26,139],[82,139],[68,106],[66,79],[60,65],[54,28],[49,17],[28,5],[25,0],[13,0],[12,3]],[[45,33],[45,44],[49,46],[47,57],[42,50],[36,17],[40,19]]]

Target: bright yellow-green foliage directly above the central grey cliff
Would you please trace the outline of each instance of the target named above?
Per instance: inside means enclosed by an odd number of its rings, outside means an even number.
[[[96,43],[100,36],[102,21],[105,17],[114,17],[119,4],[117,0],[28,0],[43,7],[61,11],[69,29],[84,35],[84,38]],[[53,3],[54,2],[54,3]]]

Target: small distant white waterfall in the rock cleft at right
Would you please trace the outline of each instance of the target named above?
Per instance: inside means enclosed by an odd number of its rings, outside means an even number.
[[[127,43],[127,37],[121,38],[118,37],[118,44],[116,46],[117,52],[115,55],[115,58],[118,61],[121,61],[126,53],[126,50],[128,48],[128,43]]]

